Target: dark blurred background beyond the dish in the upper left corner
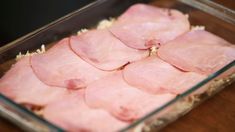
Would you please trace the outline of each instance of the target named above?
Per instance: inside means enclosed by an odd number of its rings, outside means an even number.
[[[94,0],[2,0],[0,46],[38,29]]]

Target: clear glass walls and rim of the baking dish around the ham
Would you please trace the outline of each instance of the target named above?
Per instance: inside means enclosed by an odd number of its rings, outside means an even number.
[[[189,14],[191,25],[203,25],[207,31],[235,43],[234,11],[209,0],[97,0],[1,47],[0,76],[15,63],[15,57],[19,52],[34,51],[42,44],[51,44],[63,37],[77,33],[82,28],[92,28],[100,20],[116,17],[137,2],[178,9]],[[234,82],[234,69],[235,61],[120,131],[160,130]],[[26,131],[64,131],[1,94],[0,116]]]

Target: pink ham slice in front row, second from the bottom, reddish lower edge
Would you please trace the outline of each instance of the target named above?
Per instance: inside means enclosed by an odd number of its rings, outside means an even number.
[[[134,121],[173,99],[173,94],[148,94],[128,85],[119,71],[97,80],[86,88],[85,101],[92,108],[103,108],[115,117]]]

